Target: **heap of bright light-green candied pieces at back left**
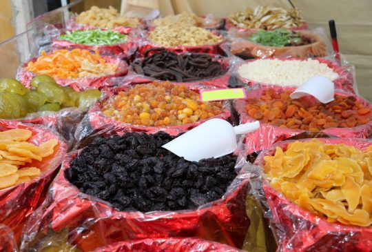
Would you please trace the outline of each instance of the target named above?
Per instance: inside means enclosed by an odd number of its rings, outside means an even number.
[[[127,41],[127,35],[113,30],[74,30],[67,31],[60,39],[89,46],[105,46]]]

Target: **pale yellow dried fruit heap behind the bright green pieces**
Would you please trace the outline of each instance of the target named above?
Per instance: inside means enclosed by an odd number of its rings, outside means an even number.
[[[110,6],[106,8],[98,8],[92,6],[90,10],[81,12],[76,17],[77,23],[82,23],[87,26],[98,28],[112,29],[118,26],[127,26],[136,28],[139,25],[139,20],[135,17],[123,17],[118,14],[118,10]]]

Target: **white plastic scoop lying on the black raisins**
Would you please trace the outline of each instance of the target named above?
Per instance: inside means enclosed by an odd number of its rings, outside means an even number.
[[[233,127],[223,119],[214,118],[162,147],[186,160],[198,162],[200,159],[222,157],[233,153],[237,148],[236,135],[249,133],[258,128],[260,122]]]

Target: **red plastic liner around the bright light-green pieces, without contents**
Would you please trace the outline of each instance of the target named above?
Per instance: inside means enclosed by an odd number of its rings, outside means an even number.
[[[87,29],[85,29],[87,30]],[[91,29],[92,30],[92,29]],[[105,29],[104,29],[105,30]],[[120,57],[121,59],[130,59],[132,55],[134,55],[134,52],[136,52],[138,43],[136,41],[136,37],[133,35],[133,29],[128,27],[119,27],[112,29],[116,32],[120,32],[123,35],[127,35],[127,41],[125,43],[116,43],[112,45],[103,45],[103,46],[90,46],[85,44],[79,44],[79,43],[73,43],[67,40],[61,40],[57,38],[54,38],[52,41],[52,45],[50,46],[52,50],[56,49],[84,49],[84,50],[91,50],[94,49],[99,50],[99,53],[101,55],[106,56],[115,56]]]

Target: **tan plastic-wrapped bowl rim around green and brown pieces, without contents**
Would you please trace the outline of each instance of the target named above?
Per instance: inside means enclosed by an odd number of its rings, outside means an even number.
[[[325,57],[327,56],[325,32],[322,35],[313,30],[301,30],[300,36],[311,41],[309,44],[302,46],[264,46],[260,43],[250,41],[249,37],[254,35],[258,30],[250,29],[245,32],[236,32],[231,30],[229,37],[231,37],[231,53],[243,58],[280,58],[280,57]]]

